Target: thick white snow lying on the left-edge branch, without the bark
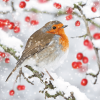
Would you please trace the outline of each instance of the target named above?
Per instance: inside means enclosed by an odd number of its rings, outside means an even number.
[[[16,51],[17,56],[22,52],[21,46],[23,46],[23,42],[14,36],[9,36],[2,29],[0,29],[0,44],[8,48],[13,48]]]

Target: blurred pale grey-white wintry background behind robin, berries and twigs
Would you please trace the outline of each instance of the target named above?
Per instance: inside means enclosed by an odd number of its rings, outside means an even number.
[[[11,1],[14,2],[14,8],[16,12],[12,12]],[[54,6],[54,3],[57,2],[61,4],[60,10],[66,10],[66,7],[73,7],[74,3],[81,2],[82,0],[26,0],[26,7],[20,8],[19,3],[21,0],[9,0],[3,1],[0,0],[0,11],[6,12],[10,11],[11,13],[0,14],[0,19],[9,19],[11,22],[14,22],[17,26],[20,27],[20,31],[16,33],[14,30],[9,30],[4,28],[4,30],[9,36],[15,36],[22,40],[24,46],[26,44],[27,39],[33,34],[36,30],[40,29],[45,23],[53,20],[61,21],[64,25],[68,25],[65,28],[65,33],[69,38],[69,53],[68,57],[61,66],[55,70],[55,73],[58,76],[61,76],[66,82],[69,82],[71,85],[76,86],[79,90],[90,99],[90,100],[99,100],[100,99],[100,75],[98,76],[97,84],[93,84],[95,78],[91,76],[86,76],[86,71],[90,70],[96,73],[98,71],[98,66],[96,62],[96,56],[93,48],[87,48],[83,45],[84,37],[82,38],[71,38],[76,36],[82,36],[86,34],[86,27],[84,21],[73,15],[71,20],[66,20],[66,14],[61,16],[55,16],[58,13],[59,9]],[[97,0],[96,0],[97,1]],[[94,13],[91,11],[91,7],[94,5],[95,0],[84,0],[83,3],[86,3],[86,6],[82,8],[84,14],[87,18],[93,18],[96,16],[100,16],[100,6],[97,7],[97,11]],[[98,0],[98,2],[100,2]],[[35,10],[43,12],[47,11],[49,13],[34,13],[29,12],[30,9],[35,8]],[[77,13],[78,10],[75,10]],[[80,14],[80,13],[79,13]],[[25,18],[29,16],[31,21],[26,22]],[[36,22],[32,22],[35,20]],[[75,26],[75,22],[79,20],[80,26]],[[100,25],[100,18],[93,19],[95,23]],[[100,33],[100,28],[89,23],[89,28],[91,34],[98,32]],[[86,37],[89,39],[88,37]],[[100,43],[100,42],[99,42]],[[15,44],[16,45],[16,44]],[[24,47],[23,47],[24,49]],[[0,51],[3,52],[3,49],[0,48]],[[72,62],[77,61],[76,54],[78,52],[82,52],[85,56],[89,58],[88,65],[84,65],[81,69],[73,69]],[[15,84],[15,95],[9,96],[9,91],[13,87],[14,80],[18,71],[16,71],[9,79],[8,82],[5,82],[8,74],[12,71],[12,69],[16,65],[16,60],[10,56],[10,63],[5,63],[4,59],[0,62],[0,100],[44,100],[45,95],[39,93],[39,90],[44,88],[44,85],[40,83],[40,80],[34,78],[34,84],[31,85],[26,82],[22,78],[21,84],[25,85],[26,89],[24,91],[18,91],[16,89],[17,85],[19,85],[19,81]],[[25,73],[29,71],[24,69]],[[30,72],[29,72],[30,73]],[[88,84],[86,86],[81,85],[81,80],[83,78],[88,79]],[[57,100],[63,99],[62,97],[58,97]],[[47,98],[48,100],[48,98]],[[53,100],[53,98],[49,98],[49,100]]]

